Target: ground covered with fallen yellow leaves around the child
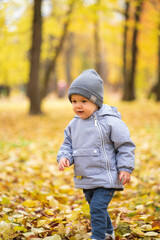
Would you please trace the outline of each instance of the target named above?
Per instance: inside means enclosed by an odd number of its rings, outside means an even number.
[[[136,168],[110,214],[118,239],[160,239],[160,104],[116,103],[136,149]],[[73,117],[68,101],[48,99],[27,115],[23,99],[0,100],[0,239],[84,240],[90,215],[73,167],[58,172],[56,153]]]

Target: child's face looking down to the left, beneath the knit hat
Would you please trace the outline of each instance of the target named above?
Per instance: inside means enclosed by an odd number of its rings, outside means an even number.
[[[89,118],[96,110],[98,110],[96,104],[81,95],[72,95],[71,102],[73,111],[82,119]]]

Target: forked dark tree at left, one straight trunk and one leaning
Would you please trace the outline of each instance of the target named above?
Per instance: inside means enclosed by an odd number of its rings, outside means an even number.
[[[40,79],[40,52],[42,39],[42,16],[41,16],[42,0],[35,0],[34,2],[34,20],[33,20],[33,40],[31,49],[31,67],[30,79],[28,83],[28,97],[30,99],[30,114],[41,113],[41,101],[46,96],[48,90],[48,83],[51,74],[55,70],[57,58],[63,48],[66,35],[68,33],[68,26],[70,23],[70,15],[73,9],[74,1],[70,1],[69,10],[66,14],[66,20],[63,25],[63,31],[59,38],[57,45],[52,48],[54,56],[47,59],[44,69],[44,79]],[[51,44],[50,44],[51,45]]]

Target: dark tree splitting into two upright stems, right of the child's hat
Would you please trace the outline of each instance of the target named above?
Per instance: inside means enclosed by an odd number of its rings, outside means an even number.
[[[136,8],[134,13],[134,28],[132,33],[132,44],[129,46],[127,33],[128,33],[128,20],[129,20],[129,7],[130,1],[126,1],[125,10],[125,27],[124,27],[124,44],[123,44],[123,100],[131,101],[135,99],[135,76],[136,76],[136,65],[137,65],[137,54],[138,54],[138,33],[140,16],[142,13],[143,0],[136,1]],[[129,57],[127,57],[127,51],[129,51]]]

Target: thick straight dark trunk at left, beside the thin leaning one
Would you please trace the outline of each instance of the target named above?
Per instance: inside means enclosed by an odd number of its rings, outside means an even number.
[[[30,114],[40,114],[39,66],[42,39],[42,0],[34,1],[33,37],[30,60],[30,77],[27,93],[30,99]]]

